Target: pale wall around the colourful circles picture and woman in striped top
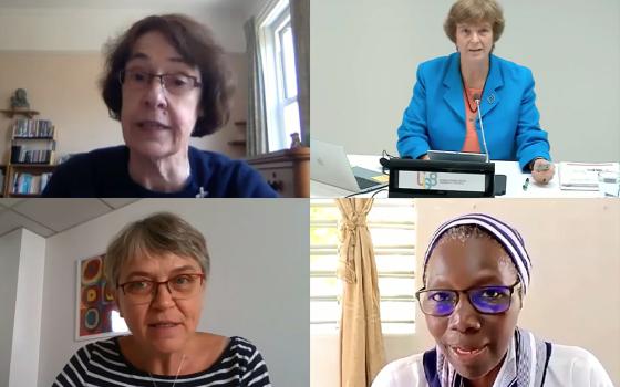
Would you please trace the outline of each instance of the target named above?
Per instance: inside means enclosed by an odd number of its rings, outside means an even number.
[[[85,344],[73,339],[75,260],[103,252],[124,224],[162,210],[207,239],[213,271],[199,328],[251,339],[275,386],[301,386],[309,378],[307,201],[217,199],[143,199],[48,239],[39,385],[49,386]]]

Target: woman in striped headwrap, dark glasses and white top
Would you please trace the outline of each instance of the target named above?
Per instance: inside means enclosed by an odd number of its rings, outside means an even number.
[[[589,352],[517,327],[530,274],[510,226],[480,213],[442,224],[416,293],[436,346],[389,364],[373,387],[612,387]]]

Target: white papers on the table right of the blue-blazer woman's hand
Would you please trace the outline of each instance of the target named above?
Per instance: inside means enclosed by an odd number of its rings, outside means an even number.
[[[599,172],[619,170],[618,163],[560,163],[560,189],[596,191],[599,189]]]

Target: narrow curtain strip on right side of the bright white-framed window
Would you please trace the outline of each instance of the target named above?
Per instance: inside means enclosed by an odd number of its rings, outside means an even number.
[[[310,146],[310,0],[290,0],[301,142]]]

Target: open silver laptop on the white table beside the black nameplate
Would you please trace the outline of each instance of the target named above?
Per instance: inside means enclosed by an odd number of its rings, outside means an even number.
[[[311,139],[310,178],[351,192],[368,192],[388,186],[382,172],[351,168],[344,147]]]

